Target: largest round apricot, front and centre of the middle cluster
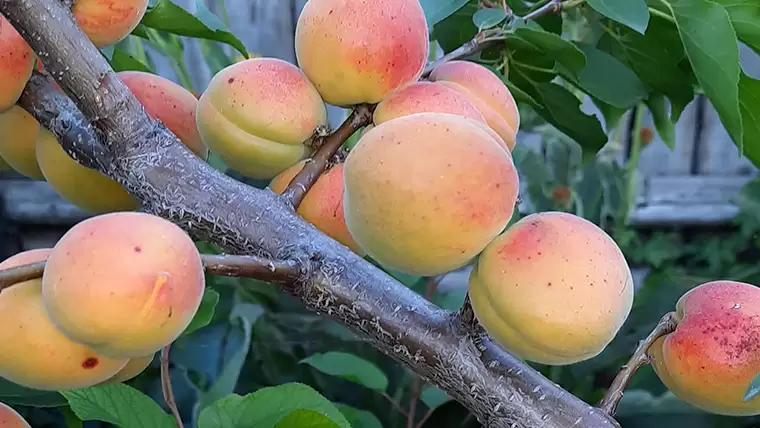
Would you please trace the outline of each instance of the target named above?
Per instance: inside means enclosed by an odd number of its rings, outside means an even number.
[[[506,227],[519,182],[512,156],[475,121],[416,113],[375,126],[349,153],[346,225],[387,268],[438,275]]]

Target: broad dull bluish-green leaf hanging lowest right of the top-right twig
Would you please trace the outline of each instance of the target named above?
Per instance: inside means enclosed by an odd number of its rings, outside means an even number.
[[[562,73],[584,92],[620,109],[629,109],[647,97],[647,90],[636,73],[612,55],[593,46],[578,44],[586,55],[586,66],[575,80]]]

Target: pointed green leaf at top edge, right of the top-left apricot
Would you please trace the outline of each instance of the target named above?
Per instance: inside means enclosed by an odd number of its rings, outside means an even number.
[[[196,1],[198,12],[193,15],[171,0],[155,0],[140,23],[145,27],[163,30],[180,36],[216,40],[237,49],[248,58],[248,52],[234,34],[202,3]]]

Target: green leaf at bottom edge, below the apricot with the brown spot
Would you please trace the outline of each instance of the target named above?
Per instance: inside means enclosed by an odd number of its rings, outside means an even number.
[[[121,428],[176,426],[174,418],[153,399],[123,383],[62,391],[83,421],[103,421]]]

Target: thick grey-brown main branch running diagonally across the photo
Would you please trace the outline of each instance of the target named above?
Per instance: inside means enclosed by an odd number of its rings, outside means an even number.
[[[0,13],[103,137],[111,174],[143,210],[230,253],[298,263],[285,291],[441,388],[485,427],[619,427],[488,338],[476,347],[456,314],[319,232],[271,191],[203,163],[145,113],[56,0],[0,0]]]

